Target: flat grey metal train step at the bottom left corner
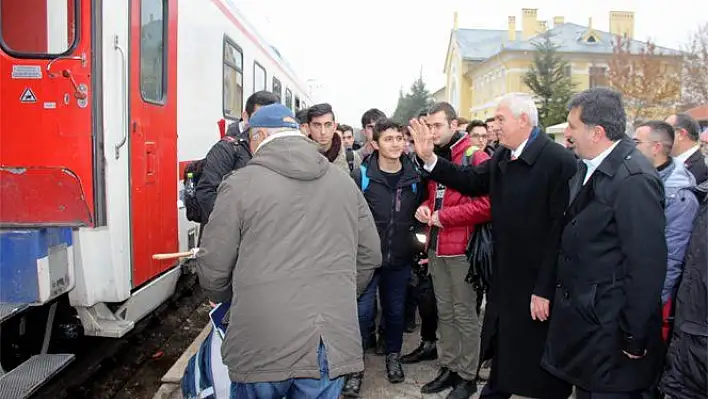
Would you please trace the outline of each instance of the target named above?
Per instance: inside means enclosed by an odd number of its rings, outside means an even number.
[[[74,360],[71,354],[34,355],[0,376],[0,398],[24,399]]]

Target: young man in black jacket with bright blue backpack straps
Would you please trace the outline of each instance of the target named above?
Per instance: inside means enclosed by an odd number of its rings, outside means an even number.
[[[374,216],[383,256],[382,267],[359,298],[359,327],[366,347],[378,288],[386,324],[386,373],[391,383],[405,379],[400,352],[406,289],[414,255],[415,211],[425,198],[415,164],[403,153],[405,144],[395,122],[376,122],[372,137],[374,152],[352,173]],[[363,373],[351,375],[343,394],[358,397],[362,378]]]

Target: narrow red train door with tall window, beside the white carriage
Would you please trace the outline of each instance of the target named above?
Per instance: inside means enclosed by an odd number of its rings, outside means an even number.
[[[130,1],[130,204],[133,287],[176,252],[177,1]]]

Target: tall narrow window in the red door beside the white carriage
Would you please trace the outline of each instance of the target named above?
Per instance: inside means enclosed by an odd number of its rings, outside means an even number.
[[[161,103],[165,95],[166,0],[140,2],[140,91],[148,102]]]

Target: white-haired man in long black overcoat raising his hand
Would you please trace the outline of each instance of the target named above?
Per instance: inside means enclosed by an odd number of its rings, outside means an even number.
[[[568,180],[576,161],[540,131],[530,96],[506,95],[495,116],[501,146],[476,167],[458,167],[436,157],[430,130],[411,121],[418,162],[428,178],[465,195],[491,199],[496,264],[480,357],[494,360],[481,398],[567,398],[570,385],[543,370],[540,362]]]

